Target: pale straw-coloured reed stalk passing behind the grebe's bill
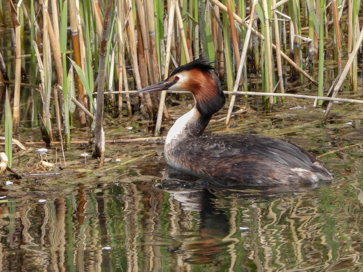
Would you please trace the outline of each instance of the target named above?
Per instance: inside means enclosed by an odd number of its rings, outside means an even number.
[[[170,9],[169,9],[169,20],[168,20],[168,34],[167,34],[167,44],[166,44],[164,79],[167,79],[168,75],[169,75],[170,48],[171,48],[172,30],[173,30],[173,24],[174,24],[175,5],[178,5],[176,0],[171,0]],[[155,136],[159,136],[159,134],[160,134],[161,121],[163,118],[163,109],[164,109],[164,105],[165,105],[165,96],[166,96],[166,91],[164,90],[161,92],[161,95],[160,95],[158,117],[156,119],[155,133],[154,133]]]

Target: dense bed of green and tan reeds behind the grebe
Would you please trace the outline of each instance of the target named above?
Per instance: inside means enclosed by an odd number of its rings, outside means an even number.
[[[137,96],[136,90],[200,57],[217,61],[215,72],[232,92],[226,125],[236,96],[253,95],[246,92],[251,74],[261,75],[266,109],[291,82],[316,85],[318,96],[306,98],[319,105],[324,96],[335,97],[346,78],[356,91],[361,5],[360,0],[1,1],[0,20],[11,31],[13,48],[0,48],[0,82],[11,83],[1,89],[7,155],[20,120],[40,127],[47,145],[60,139],[68,149],[70,126],[91,126],[94,156],[101,158],[104,111],[120,118],[135,110],[156,116],[158,136],[162,117],[169,118],[167,94]],[[326,86],[324,54],[331,43],[337,78]]]

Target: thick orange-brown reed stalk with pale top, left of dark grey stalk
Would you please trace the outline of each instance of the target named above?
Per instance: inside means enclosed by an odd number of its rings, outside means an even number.
[[[76,0],[69,1],[69,24],[72,33],[72,41],[73,41],[73,55],[74,61],[77,63],[79,67],[82,67],[81,63],[81,52],[79,48],[79,36],[78,36],[78,23],[77,23],[77,5]],[[83,65],[84,67],[84,65]],[[78,73],[76,73],[77,78],[77,94],[78,101],[83,106],[85,105],[85,95],[83,94],[83,84],[81,78],[79,78]],[[79,111],[79,125],[81,127],[86,126],[86,115],[83,111]]]

